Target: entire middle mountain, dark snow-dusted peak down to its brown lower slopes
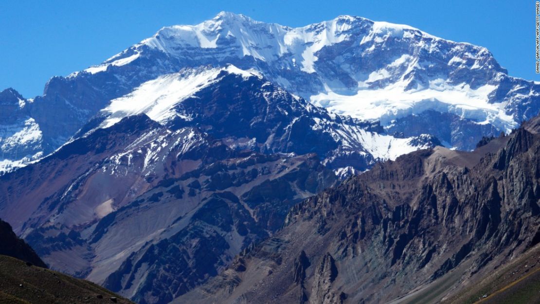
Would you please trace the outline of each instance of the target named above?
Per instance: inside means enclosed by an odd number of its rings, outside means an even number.
[[[186,69],[112,100],[69,143],[0,177],[0,215],[53,269],[166,303],[272,235],[336,173],[437,143],[379,129],[252,71]]]

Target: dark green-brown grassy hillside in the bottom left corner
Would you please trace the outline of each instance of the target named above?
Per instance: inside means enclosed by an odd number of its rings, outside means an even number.
[[[0,304],[97,304],[115,300],[132,303],[92,282],[0,255]]]

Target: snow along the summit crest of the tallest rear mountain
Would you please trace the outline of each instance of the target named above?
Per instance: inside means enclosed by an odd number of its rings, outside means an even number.
[[[316,52],[325,46],[350,39],[352,36],[349,31],[358,21],[368,19],[340,16],[331,21],[302,28],[289,28],[275,23],[255,21],[241,14],[220,12],[213,19],[197,25],[167,26],[153,37],[144,39],[139,46],[146,45],[173,56],[183,56],[186,48],[217,49],[229,40],[233,42],[235,48],[229,53],[224,53],[222,55],[224,58],[234,54],[240,58],[251,56],[269,63],[282,56],[289,56],[293,65],[301,65],[302,71],[315,73],[314,63],[319,59]],[[400,33],[403,35],[404,30],[436,38],[411,26],[373,22],[372,33],[362,42],[380,39],[376,36],[397,36]],[[119,61],[115,59],[116,57],[112,57],[106,63],[114,64]]]

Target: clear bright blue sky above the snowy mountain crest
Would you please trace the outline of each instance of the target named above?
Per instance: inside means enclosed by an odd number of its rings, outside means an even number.
[[[197,24],[223,10],[294,27],[339,15],[409,24],[485,46],[510,75],[540,80],[534,6],[529,0],[0,0],[0,90],[14,87],[34,97],[52,76],[99,64],[163,26]]]

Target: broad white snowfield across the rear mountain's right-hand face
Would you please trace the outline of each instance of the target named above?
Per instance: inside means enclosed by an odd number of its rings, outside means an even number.
[[[426,89],[406,90],[406,83],[399,82],[382,89],[360,89],[353,95],[329,91],[311,96],[311,101],[334,113],[362,120],[380,120],[385,126],[396,118],[431,109],[473,119],[478,124],[492,124],[508,133],[518,124],[504,111],[503,103],[488,102],[489,93],[495,89],[494,85],[471,89],[466,83],[451,86],[443,79],[435,79]]]

